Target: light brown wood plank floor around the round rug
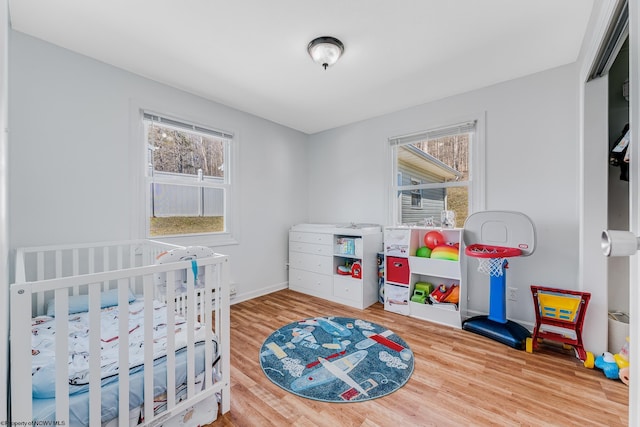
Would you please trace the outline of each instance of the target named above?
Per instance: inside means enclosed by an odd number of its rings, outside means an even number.
[[[411,379],[371,401],[298,397],[263,374],[259,351],[275,330],[314,316],[384,325],[413,350]],[[352,309],[284,290],[231,308],[231,411],[211,426],[626,426],[628,388],[587,369],[573,350],[533,354],[479,335],[384,311]]]

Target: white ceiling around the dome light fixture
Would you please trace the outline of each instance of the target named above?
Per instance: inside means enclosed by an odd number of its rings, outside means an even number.
[[[576,61],[596,0],[9,0],[13,30],[312,134]],[[334,36],[324,70],[307,54]]]

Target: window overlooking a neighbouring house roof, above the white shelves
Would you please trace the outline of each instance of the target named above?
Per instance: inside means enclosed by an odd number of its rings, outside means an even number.
[[[477,123],[467,121],[389,139],[392,176],[396,177],[391,189],[392,223],[439,226],[441,212],[451,210],[456,226],[463,226],[474,210],[473,189],[480,192],[471,161],[472,153],[478,152],[474,147]]]

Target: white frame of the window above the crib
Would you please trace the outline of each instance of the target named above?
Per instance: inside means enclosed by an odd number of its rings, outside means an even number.
[[[153,108],[150,108],[153,107]],[[164,107],[164,108],[163,108]],[[225,150],[225,177],[223,184],[206,185],[216,188],[224,188],[224,232],[182,234],[172,236],[149,236],[150,212],[150,184],[151,177],[148,176],[150,165],[148,164],[148,147],[146,144],[144,113],[156,114],[158,116],[175,119],[183,123],[194,124],[207,129],[220,129],[219,126],[208,124],[206,119],[198,119],[197,114],[188,112],[173,112],[173,107],[159,105],[158,103],[143,103],[140,101],[131,102],[131,177],[134,189],[131,195],[131,235],[132,238],[151,238],[162,240],[167,243],[174,243],[183,246],[223,246],[233,245],[239,242],[239,224],[234,218],[238,217],[238,153],[239,143],[237,132],[224,131],[223,133],[232,136],[229,139]],[[166,111],[166,113],[165,113]],[[162,113],[158,113],[162,112]],[[152,166],[151,166],[152,167]],[[157,178],[155,182],[160,182]],[[162,180],[162,183],[173,185],[193,186],[193,181],[185,180]],[[202,182],[198,182],[198,185]]]

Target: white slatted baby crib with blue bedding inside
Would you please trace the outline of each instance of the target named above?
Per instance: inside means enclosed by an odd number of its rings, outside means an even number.
[[[136,240],[17,251],[12,423],[197,425],[215,420],[218,401],[229,411],[229,260],[156,262],[180,249]],[[185,282],[159,294],[159,277]]]

